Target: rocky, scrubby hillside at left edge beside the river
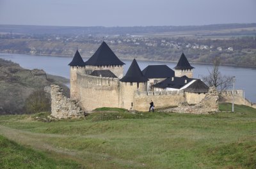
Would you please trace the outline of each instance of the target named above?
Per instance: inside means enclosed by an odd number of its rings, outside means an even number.
[[[44,70],[26,70],[17,63],[0,59],[0,114],[26,113],[24,103],[29,95],[52,83],[59,84],[47,78]],[[68,87],[63,87],[69,93]]]

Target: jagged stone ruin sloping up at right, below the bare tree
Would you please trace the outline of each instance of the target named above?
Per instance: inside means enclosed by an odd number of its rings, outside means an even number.
[[[219,93],[215,87],[210,87],[205,98],[200,103],[189,106],[187,102],[180,103],[177,108],[170,108],[166,112],[179,112],[190,114],[209,114],[219,111]]]

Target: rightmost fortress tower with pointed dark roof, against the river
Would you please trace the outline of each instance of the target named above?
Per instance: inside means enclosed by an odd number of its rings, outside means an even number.
[[[188,59],[182,52],[179,62],[177,66],[175,66],[175,77],[183,77],[186,76],[188,78],[193,78],[193,69],[194,67],[191,66],[188,62]]]

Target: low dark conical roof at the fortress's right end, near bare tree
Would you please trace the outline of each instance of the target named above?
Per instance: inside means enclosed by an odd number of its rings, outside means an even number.
[[[202,80],[198,79],[193,84],[189,85],[186,89],[184,89],[185,92],[195,92],[195,93],[200,93],[200,92],[208,92],[209,87],[202,82]]]

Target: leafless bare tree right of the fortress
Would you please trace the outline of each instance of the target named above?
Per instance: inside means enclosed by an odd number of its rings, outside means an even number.
[[[209,71],[209,75],[203,77],[205,83],[214,86],[220,93],[232,86],[232,77],[223,76],[220,72],[220,57],[215,57],[213,61],[213,69]]]

